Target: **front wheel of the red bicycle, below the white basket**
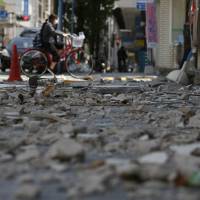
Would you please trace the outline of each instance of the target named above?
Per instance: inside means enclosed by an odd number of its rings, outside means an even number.
[[[92,56],[82,49],[77,49],[67,57],[67,72],[74,78],[84,78],[93,71]]]

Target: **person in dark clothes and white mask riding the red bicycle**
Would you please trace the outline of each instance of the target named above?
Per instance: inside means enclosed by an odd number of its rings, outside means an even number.
[[[50,70],[52,71],[60,60],[59,50],[63,49],[63,43],[58,42],[57,37],[67,36],[66,33],[56,31],[57,21],[58,17],[51,14],[41,30],[42,46],[53,57],[50,66]]]

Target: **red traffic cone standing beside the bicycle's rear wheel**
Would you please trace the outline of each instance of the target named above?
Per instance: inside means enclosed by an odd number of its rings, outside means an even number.
[[[13,45],[8,81],[22,81],[16,44]]]

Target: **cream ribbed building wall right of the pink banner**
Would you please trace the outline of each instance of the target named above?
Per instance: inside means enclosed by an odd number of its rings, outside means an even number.
[[[181,41],[185,23],[185,0],[160,0],[158,9],[159,44],[156,65],[160,68],[176,68],[175,43]]]

